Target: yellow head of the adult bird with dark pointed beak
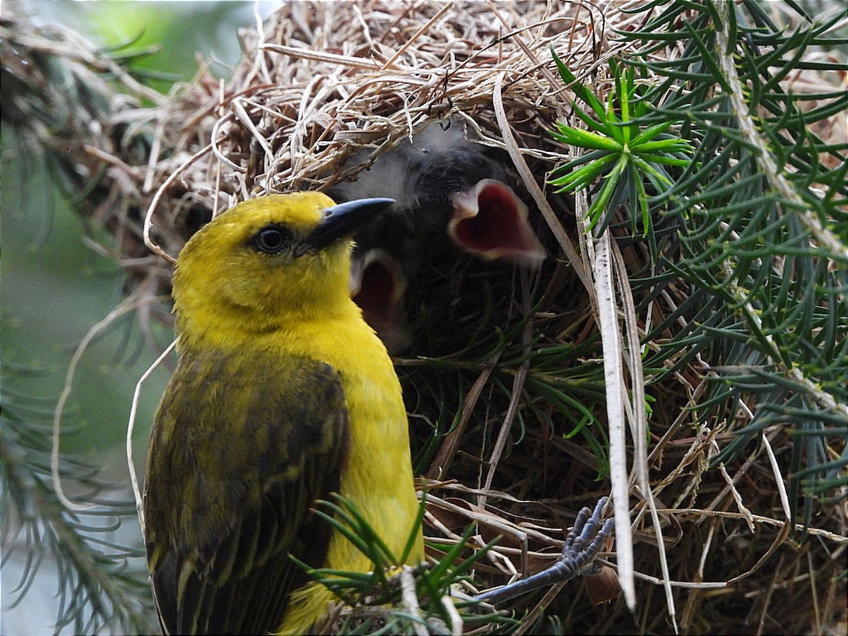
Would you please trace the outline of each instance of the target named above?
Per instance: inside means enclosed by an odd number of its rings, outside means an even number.
[[[348,310],[349,237],[391,199],[336,205],[320,192],[253,198],[182,248],[174,272],[177,331],[266,332],[301,316]]]

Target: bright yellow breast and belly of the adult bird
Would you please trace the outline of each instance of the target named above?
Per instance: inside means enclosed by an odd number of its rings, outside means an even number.
[[[362,321],[359,308],[351,301],[340,315],[254,337],[250,346],[304,355],[338,371],[350,426],[349,455],[340,494],[354,502],[393,555],[400,556],[412,532],[418,506],[408,421],[392,361],[380,339]],[[423,559],[419,532],[407,562],[417,565]],[[372,564],[346,538],[334,534],[324,567],[368,572]],[[334,598],[321,585],[298,590],[289,601],[279,633],[308,631]]]

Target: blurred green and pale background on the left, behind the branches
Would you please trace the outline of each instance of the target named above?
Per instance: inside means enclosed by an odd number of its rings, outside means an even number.
[[[167,93],[175,82],[192,79],[198,71],[198,59],[211,60],[209,72],[225,78],[240,53],[237,30],[255,25],[257,15],[263,17],[278,5],[37,0],[4,3],[3,18],[8,18],[11,9],[14,14],[29,14],[38,25],[62,25],[77,31],[95,47],[130,56],[129,67],[134,74],[148,86]],[[68,198],[64,177],[53,158],[21,152],[25,143],[16,126],[6,119],[0,142],[3,417],[36,420],[42,427],[50,427],[75,350],[92,326],[120,301],[125,271],[97,246],[108,245],[113,239],[84,225],[75,212],[75,202]],[[165,326],[157,323],[154,329],[157,340],[170,340]],[[131,499],[126,427],[133,390],[154,357],[131,312],[100,332],[76,366],[61,421],[61,446],[63,453],[76,453],[86,459],[86,464],[102,467],[99,479],[114,490],[101,492],[101,499]],[[169,375],[160,368],[142,388],[133,444],[139,467],[143,466],[153,412]],[[7,425],[8,421],[3,421],[3,426]],[[4,453],[14,451],[7,448]],[[31,488],[38,487],[38,483],[31,484]],[[67,494],[75,499],[73,486],[65,483],[65,488],[71,488]],[[3,510],[8,507],[3,505]],[[105,527],[116,527],[97,533],[99,540],[142,548],[133,516],[125,516],[120,527],[116,517],[102,518]],[[86,518],[86,523],[90,522]],[[38,535],[44,532],[43,527],[31,529],[29,540],[40,540]],[[55,561],[47,556],[33,567],[26,544],[7,539],[3,538],[3,560],[7,562],[0,582],[0,633],[56,633],[56,616],[69,599],[62,594]],[[143,567],[140,551],[131,555],[127,567]],[[138,592],[149,594],[144,589]],[[75,631],[70,624],[59,633]]]

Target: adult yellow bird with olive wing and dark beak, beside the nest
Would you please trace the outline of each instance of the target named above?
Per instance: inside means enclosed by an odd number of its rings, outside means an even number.
[[[176,263],[179,365],[151,433],[144,534],[165,633],[306,633],[314,567],[371,562],[310,512],[351,499],[400,555],[417,500],[386,349],[349,295],[349,236],[391,199],[254,198]],[[407,562],[423,560],[420,530]]]

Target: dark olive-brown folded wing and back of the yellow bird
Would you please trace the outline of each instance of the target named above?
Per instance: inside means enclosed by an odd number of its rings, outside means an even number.
[[[302,357],[184,354],[151,435],[145,538],[166,633],[265,633],[320,567],[348,414],[338,373]]]

